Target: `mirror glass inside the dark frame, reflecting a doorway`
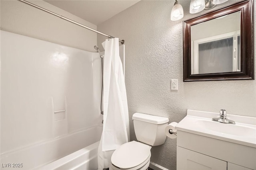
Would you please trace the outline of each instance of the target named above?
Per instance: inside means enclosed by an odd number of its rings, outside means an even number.
[[[191,74],[240,72],[240,14],[191,26]]]

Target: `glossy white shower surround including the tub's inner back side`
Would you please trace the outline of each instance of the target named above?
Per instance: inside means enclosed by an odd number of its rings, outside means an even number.
[[[99,54],[0,33],[1,163],[32,169],[99,141]]]

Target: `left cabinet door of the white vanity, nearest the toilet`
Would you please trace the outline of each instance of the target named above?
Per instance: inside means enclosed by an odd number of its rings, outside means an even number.
[[[177,147],[177,170],[227,170],[227,162]]]

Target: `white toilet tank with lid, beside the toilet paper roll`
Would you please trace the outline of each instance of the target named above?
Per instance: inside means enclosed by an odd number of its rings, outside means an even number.
[[[166,139],[164,129],[168,125],[168,118],[144,113],[134,113],[132,120],[138,141],[151,146],[164,144]]]

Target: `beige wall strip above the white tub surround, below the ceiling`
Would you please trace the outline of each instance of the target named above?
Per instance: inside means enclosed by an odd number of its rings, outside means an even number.
[[[93,29],[97,26],[42,0],[30,1]],[[60,45],[95,52],[96,33],[17,0],[0,1],[0,26],[4,31],[42,39]]]

